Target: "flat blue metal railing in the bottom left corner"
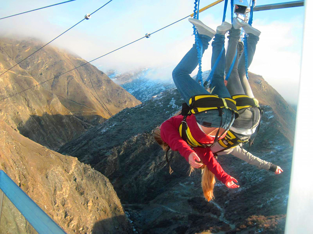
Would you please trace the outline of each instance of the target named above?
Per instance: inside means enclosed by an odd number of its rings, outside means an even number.
[[[66,234],[4,171],[0,189],[39,234]]]

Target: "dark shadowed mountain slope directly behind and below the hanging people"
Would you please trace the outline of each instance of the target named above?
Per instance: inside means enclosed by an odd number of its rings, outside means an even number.
[[[250,74],[249,82],[264,108],[250,152],[284,173],[258,170],[231,155],[218,157],[241,187],[230,190],[217,183],[212,202],[203,198],[201,174],[188,177],[189,164],[177,152],[169,153],[174,170],[169,175],[165,152],[152,136],[156,126],[180,109],[176,89],[121,111],[59,152],[78,157],[110,179],[139,233],[283,233],[295,111],[261,76]]]

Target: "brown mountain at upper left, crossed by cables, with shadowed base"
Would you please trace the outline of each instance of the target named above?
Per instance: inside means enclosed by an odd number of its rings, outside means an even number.
[[[42,45],[36,39],[0,38],[0,73]],[[0,76],[0,99],[85,62],[77,55],[46,46]],[[55,149],[120,110],[140,103],[95,66],[87,64],[0,101],[0,115],[24,136]]]

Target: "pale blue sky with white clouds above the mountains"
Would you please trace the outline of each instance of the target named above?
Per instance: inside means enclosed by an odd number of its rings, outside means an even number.
[[[2,3],[0,16],[47,6],[59,1],[11,0]],[[64,32],[108,0],[77,0],[0,20],[2,35],[38,37],[44,42]],[[90,20],[85,20],[52,43],[90,61],[146,33],[156,31],[193,11],[193,0],[113,0]],[[201,0],[204,7],[213,0]],[[229,1],[230,2],[230,1]],[[285,2],[258,0],[257,5]],[[224,3],[202,13],[199,19],[215,29],[222,21]],[[300,75],[304,7],[254,13],[253,26],[262,34],[249,71],[262,75],[290,103],[296,103]],[[230,9],[226,15],[230,22]],[[187,19],[116,51],[93,64],[102,71],[127,71],[140,67],[162,68],[158,78],[171,79],[171,71],[190,49],[194,37]],[[210,48],[210,47],[209,47]],[[203,70],[210,69],[211,51],[203,56]],[[197,70],[197,69],[196,69]],[[194,74],[196,71],[194,71]]]

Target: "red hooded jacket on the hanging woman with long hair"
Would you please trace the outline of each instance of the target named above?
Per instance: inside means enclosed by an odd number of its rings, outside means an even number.
[[[188,162],[188,157],[191,153],[196,153],[201,161],[208,167],[208,169],[216,176],[222,183],[230,178],[221,165],[216,161],[210,148],[194,147],[193,149],[184,141],[179,135],[178,128],[183,120],[182,115],[174,116],[166,120],[161,125],[161,138],[166,142],[172,150],[178,151]],[[195,140],[202,144],[211,144],[214,137],[205,134],[198,126],[194,115],[190,115],[186,120],[191,134]],[[226,134],[226,133],[225,133]],[[225,135],[223,134],[223,135]],[[222,139],[224,136],[221,136]]]

